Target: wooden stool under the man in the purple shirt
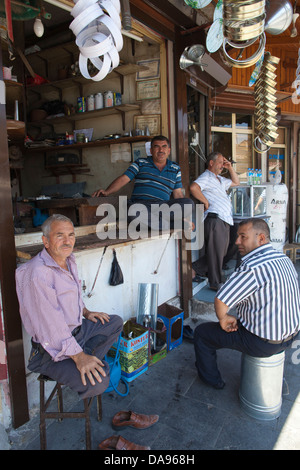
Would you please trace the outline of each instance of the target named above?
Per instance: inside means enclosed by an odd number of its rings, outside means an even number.
[[[49,398],[45,400],[45,382],[53,381],[46,375],[39,375],[38,380],[40,382],[40,446],[41,450],[46,450],[46,419],[58,419],[62,421],[63,418],[85,418],[85,440],[86,450],[91,450],[91,422],[90,422],[90,408],[93,402],[93,398],[84,398],[84,411],[77,412],[65,412],[63,411],[63,394],[62,385],[58,382],[55,383]],[[58,411],[47,411],[55,393],[57,392]],[[97,418],[98,421],[102,420],[102,401],[101,395],[97,396]]]

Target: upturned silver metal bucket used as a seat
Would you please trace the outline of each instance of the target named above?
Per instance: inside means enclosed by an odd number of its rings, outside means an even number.
[[[242,354],[239,397],[252,418],[269,421],[281,413],[285,352],[271,357]]]

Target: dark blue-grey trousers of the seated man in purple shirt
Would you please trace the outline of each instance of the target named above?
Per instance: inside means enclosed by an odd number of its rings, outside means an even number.
[[[109,385],[109,365],[103,361],[103,358],[119,337],[122,329],[123,320],[117,315],[111,315],[109,322],[105,322],[104,325],[100,320],[94,323],[84,318],[81,329],[75,336],[76,341],[86,354],[93,354],[104,363],[103,369],[106,377],[101,376],[101,383],[95,380],[95,385],[92,385],[86,377],[87,385],[83,385],[80,372],[73,359],[54,362],[46,351],[43,352],[41,347],[32,348],[28,369],[67,385],[76,391],[82,399],[101,395]]]

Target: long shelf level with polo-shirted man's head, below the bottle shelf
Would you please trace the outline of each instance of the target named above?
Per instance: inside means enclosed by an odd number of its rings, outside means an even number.
[[[93,148],[93,147],[105,147],[107,145],[113,144],[125,144],[125,143],[134,143],[134,142],[147,142],[151,140],[151,136],[148,135],[141,135],[137,137],[120,137],[119,139],[102,139],[102,140],[95,140],[94,142],[85,142],[85,143],[78,143],[72,145],[55,145],[55,146],[41,146],[41,147],[27,147],[26,153],[50,153],[50,152],[58,152],[62,150],[80,150],[82,148]]]

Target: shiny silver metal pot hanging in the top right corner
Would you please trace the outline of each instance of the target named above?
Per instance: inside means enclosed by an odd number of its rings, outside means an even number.
[[[266,2],[265,32],[281,34],[293,20],[293,7],[288,0],[272,0]]]

